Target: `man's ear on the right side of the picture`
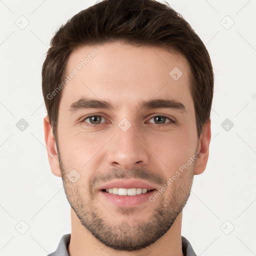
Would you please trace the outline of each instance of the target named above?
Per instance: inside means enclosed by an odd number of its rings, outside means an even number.
[[[195,163],[194,174],[201,174],[205,168],[209,156],[209,144],[210,144],[210,119],[202,126],[202,132],[198,141],[197,151],[200,152]]]

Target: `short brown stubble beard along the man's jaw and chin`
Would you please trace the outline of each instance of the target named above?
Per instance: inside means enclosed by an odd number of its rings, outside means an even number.
[[[194,164],[190,166],[192,169],[186,169],[181,174],[181,176],[183,175],[182,178],[178,177],[180,181],[173,182],[164,194],[159,196],[154,202],[148,201],[148,203],[157,203],[157,207],[152,210],[146,222],[139,224],[134,224],[134,221],[131,224],[125,220],[118,223],[117,215],[119,214],[122,214],[122,216],[127,215],[129,218],[133,214],[135,219],[136,214],[138,214],[135,208],[120,208],[117,214],[116,212],[107,212],[107,214],[116,215],[115,223],[109,223],[107,219],[102,217],[102,211],[106,211],[106,209],[98,203],[95,196],[85,186],[72,183],[68,180],[66,177],[68,170],[63,165],[60,157],[59,166],[66,198],[82,226],[102,244],[112,249],[134,251],[152,244],[172,226],[189,197],[193,179],[191,173],[193,173]],[[102,209],[97,208],[95,205],[96,202],[97,205],[102,206]],[[145,209],[142,209],[142,212],[143,210]]]

